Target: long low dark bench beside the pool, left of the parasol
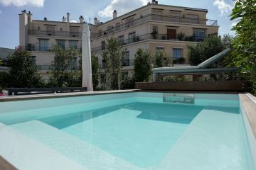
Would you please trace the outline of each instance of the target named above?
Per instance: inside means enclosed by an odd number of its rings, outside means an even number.
[[[8,95],[26,95],[26,94],[55,94],[67,92],[87,91],[87,87],[53,87],[53,88],[6,88]]]

